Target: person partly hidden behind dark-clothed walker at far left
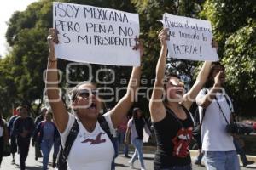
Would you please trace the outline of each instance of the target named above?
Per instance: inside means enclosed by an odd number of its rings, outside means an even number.
[[[16,142],[16,136],[13,133],[13,127],[14,127],[14,122],[15,119],[20,116],[20,109],[22,107],[18,106],[16,108],[16,115],[11,116],[8,122],[8,132],[9,132],[9,138],[10,138],[10,145],[11,145],[11,154],[12,154],[12,164],[15,164],[15,153],[17,152],[17,142]]]

